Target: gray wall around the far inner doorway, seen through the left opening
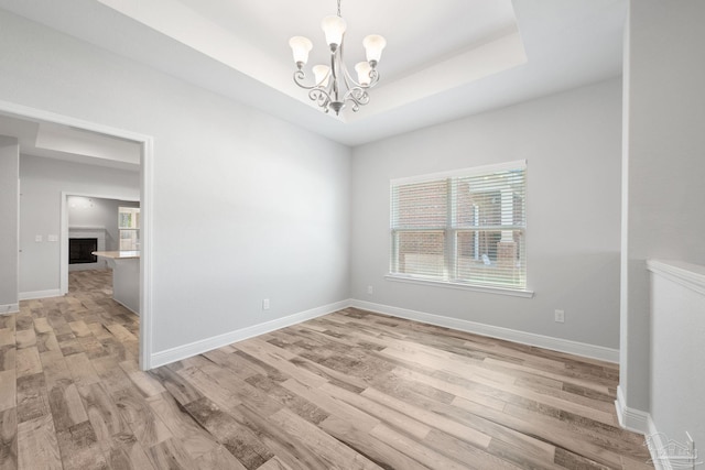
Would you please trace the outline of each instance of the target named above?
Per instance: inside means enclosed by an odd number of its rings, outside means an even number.
[[[20,294],[23,298],[59,289],[61,243],[48,241],[48,236],[62,233],[62,192],[140,198],[137,172],[21,155],[20,177]],[[36,236],[42,237],[41,242],[35,241]]]

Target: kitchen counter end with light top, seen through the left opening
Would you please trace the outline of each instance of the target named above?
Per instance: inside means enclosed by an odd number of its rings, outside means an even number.
[[[112,298],[140,315],[140,252],[94,251],[105,258],[112,269]]]

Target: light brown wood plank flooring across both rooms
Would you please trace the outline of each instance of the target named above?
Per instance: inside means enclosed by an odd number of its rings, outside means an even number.
[[[650,468],[614,364],[349,308],[145,373],[69,285],[0,316],[0,470]]]

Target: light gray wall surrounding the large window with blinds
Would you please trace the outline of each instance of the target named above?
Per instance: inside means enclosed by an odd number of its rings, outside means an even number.
[[[621,83],[554,95],[357,147],[351,297],[606,348],[619,338]],[[389,270],[389,181],[528,160],[533,298],[404,284]],[[373,295],[367,294],[367,286]],[[565,324],[554,310],[565,310]]]

